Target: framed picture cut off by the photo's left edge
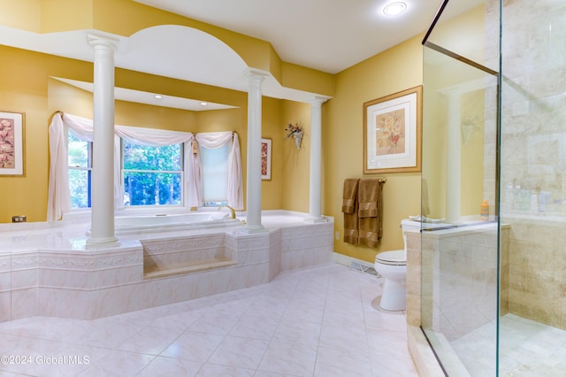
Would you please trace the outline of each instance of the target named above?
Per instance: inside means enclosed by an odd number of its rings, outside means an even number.
[[[25,176],[24,113],[0,112],[0,175]]]

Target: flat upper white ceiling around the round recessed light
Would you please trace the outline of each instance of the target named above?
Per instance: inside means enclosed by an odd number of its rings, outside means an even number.
[[[134,0],[271,42],[283,61],[338,73],[430,26],[442,0],[403,0],[407,11],[387,16],[397,0]],[[483,3],[453,0],[447,17]]]

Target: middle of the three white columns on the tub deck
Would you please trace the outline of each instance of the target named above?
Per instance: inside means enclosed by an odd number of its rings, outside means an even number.
[[[262,83],[261,71],[245,73],[248,89],[248,173],[246,192],[246,233],[264,232],[262,225]]]

